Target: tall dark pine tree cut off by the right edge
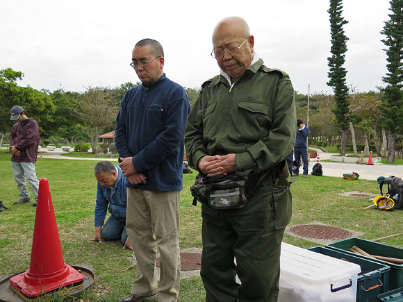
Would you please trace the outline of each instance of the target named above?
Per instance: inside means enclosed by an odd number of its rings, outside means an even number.
[[[390,20],[385,22],[381,31],[386,39],[382,40],[386,45],[388,58],[388,73],[383,78],[388,85],[384,91],[383,102],[379,105],[382,115],[382,128],[388,131],[388,162],[395,162],[395,134],[403,128],[403,0],[392,0],[388,15]]]

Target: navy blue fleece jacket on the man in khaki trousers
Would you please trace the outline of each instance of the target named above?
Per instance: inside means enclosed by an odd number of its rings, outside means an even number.
[[[128,187],[150,191],[182,190],[183,137],[190,102],[186,91],[165,74],[149,86],[124,94],[116,118],[115,143],[119,156],[133,156],[135,171],[146,184]]]

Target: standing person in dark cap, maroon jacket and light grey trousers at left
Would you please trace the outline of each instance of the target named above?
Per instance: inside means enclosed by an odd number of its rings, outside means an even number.
[[[13,153],[11,167],[13,167],[15,183],[17,183],[19,190],[19,200],[15,201],[14,204],[19,205],[31,202],[28,187],[26,186],[26,178],[35,196],[33,206],[36,206],[39,190],[39,181],[35,170],[39,145],[38,122],[35,119],[26,117],[24,108],[20,106],[13,106],[10,113],[10,120],[17,121],[10,132],[10,152]]]

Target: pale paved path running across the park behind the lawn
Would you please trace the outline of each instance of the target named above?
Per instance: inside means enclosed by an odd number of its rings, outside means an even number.
[[[313,148],[309,148],[313,149]],[[334,177],[343,177],[343,174],[356,172],[360,175],[360,179],[366,179],[368,181],[376,181],[379,176],[397,176],[403,178],[403,166],[402,165],[357,165],[354,163],[347,162],[323,162],[322,160],[329,160],[331,155],[336,155],[337,153],[327,153],[322,152],[320,149],[317,149],[320,158],[320,164],[322,165],[323,176],[334,176]],[[42,158],[61,158],[61,159],[70,159],[70,160],[110,160],[117,161],[116,158],[74,158],[61,156],[61,154],[67,153],[62,151],[60,148],[56,148],[55,151],[47,151],[42,152]],[[41,154],[38,152],[38,157]],[[311,176],[311,171],[313,165],[317,160],[315,158],[311,158],[311,162],[309,162],[309,177]],[[302,171],[302,167],[300,168]],[[316,177],[316,176],[315,176]]]

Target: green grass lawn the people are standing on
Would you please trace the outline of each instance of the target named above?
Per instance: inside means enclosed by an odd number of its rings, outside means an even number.
[[[94,287],[81,296],[83,302],[118,301],[131,290],[135,268],[127,260],[133,253],[122,249],[120,242],[90,242],[94,236],[94,206],[97,181],[93,175],[94,161],[38,160],[38,178],[47,178],[56,213],[56,221],[67,264],[88,263],[96,275]],[[10,210],[0,213],[0,275],[26,271],[31,261],[31,245],[35,208],[31,204],[13,205],[18,190],[10,165],[10,153],[0,153],[0,199]],[[201,247],[200,205],[192,205],[189,187],[195,173],[184,174],[179,232],[181,249]],[[377,194],[375,181],[347,181],[342,178],[309,175],[299,178],[291,186],[293,192],[293,219],[290,225],[320,222],[363,233],[363,239],[372,240],[400,233],[403,211],[381,212],[363,210],[372,201],[368,197],[346,197],[338,193],[367,192]],[[32,194],[31,190],[30,193]],[[32,196],[32,195],[31,195]],[[291,235],[284,242],[307,248],[315,242]],[[403,249],[403,235],[382,240],[381,243]],[[199,276],[181,280],[179,301],[204,301],[204,287]],[[44,300],[42,300],[44,301]]]

